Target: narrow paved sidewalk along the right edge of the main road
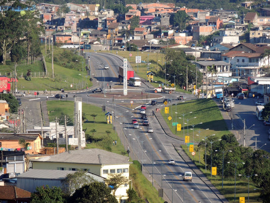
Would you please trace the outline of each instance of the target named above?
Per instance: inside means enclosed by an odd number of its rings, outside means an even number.
[[[155,116],[160,123],[162,129],[167,134],[167,136],[170,136],[172,138],[175,138],[179,140],[180,142],[183,142],[183,138],[179,138],[178,136],[175,136],[171,129],[169,128],[168,124],[165,122],[164,118],[162,117],[160,112],[155,112]],[[189,158],[189,156],[184,152],[180,144],[173,144],[175,150],[179,154],[179,156],[182,157],[182,159],[186,162],[186,164],[191,168],[192,172],[198,176],[208,187],[213,191],[213,193],[220,199],[220,202],[228,202],[228,200],[220,194],[220,192],[213,186],[213,184],[206,178],[204,173],[199,170],[199,168],[194,164],[194,162]]]

